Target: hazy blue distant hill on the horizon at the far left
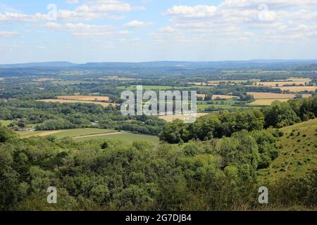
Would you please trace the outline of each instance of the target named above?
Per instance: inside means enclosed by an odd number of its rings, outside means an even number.
[[[18,64],[6,64],[0,65],[0,68],[67,68],[77,65],[69,62],[45,62],[45,63],[18,63]]]

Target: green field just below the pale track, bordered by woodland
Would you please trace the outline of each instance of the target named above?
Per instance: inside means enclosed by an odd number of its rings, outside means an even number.
[[[125,141],[128,143],[132,143],[133,141],[150,141],[152,143],[159,143],[159,138],[157,136],[151,136],[151,135],[145,135],[145,134],[130,134],[130,133],[113,134],[108,136],[85,137],[82,139],[75,139],[75,141],[90,141],[90,140],[101,140],[101,139]]]

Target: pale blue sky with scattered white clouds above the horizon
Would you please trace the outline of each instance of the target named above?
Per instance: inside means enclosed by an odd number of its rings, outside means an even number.
[[[316,59],[317,0],[0,0],[0,63]]]

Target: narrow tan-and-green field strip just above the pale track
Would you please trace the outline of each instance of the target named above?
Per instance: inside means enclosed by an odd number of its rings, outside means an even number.
[[[54,135],[57,139],[61,139],[65,136],[71,138],[95,135],[95,134],[109,134],[116,132],[113,129],[97,129],[97,128],[86,128],[86,129],[61,129],[54,131],[16,131],[21,138],[28,138],[31,136],[49,136]]]

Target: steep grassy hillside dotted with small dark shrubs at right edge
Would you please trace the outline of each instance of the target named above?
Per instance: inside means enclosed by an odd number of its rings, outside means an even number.
[[[303,177],[317,168],[317,119],[280,129],[284,135],[279,139],[281,146],[278,158],[269,169],[264,169],[263,178],[271,180],[292,175]]]

